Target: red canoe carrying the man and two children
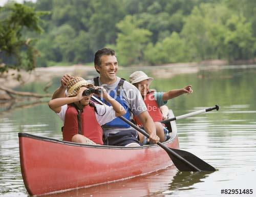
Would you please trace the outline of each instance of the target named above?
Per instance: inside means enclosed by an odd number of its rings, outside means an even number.
[[[171,127],[171,128],[170,128]],[[164,144],[179,148],[175,122]],[[92,146],[19,133],[20,166],[30,195],[109,183],[150,173],[173,162],[158,145]]]

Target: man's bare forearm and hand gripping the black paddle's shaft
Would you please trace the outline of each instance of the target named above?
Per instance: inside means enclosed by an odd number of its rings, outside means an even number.
[[[146,133],[150,135],[150,141],[152,141],[153,143],[159,142],[159,137],[156,135],[156,126],[150,114],[148,114],[147,111],[144,111],[140,113],[138,117],[142,122]]]

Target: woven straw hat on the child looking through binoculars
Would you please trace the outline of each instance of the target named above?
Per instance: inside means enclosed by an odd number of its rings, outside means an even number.
[[[88,83],[82,77],[74,77],[74,78],[70,79],[67,82],[68,97],[76,96],[82,85],[91,86],[91,87],[94,86],[92,83]]]

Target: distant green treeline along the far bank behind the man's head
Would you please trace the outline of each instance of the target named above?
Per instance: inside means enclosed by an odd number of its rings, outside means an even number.
[[[39,67],[93,62],[103,47],[120,65],[253,59],[255,0],[37,0]]]

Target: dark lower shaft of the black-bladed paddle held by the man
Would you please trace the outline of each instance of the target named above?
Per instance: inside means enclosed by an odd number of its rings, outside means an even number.
[[[130,124],[133,128],[135,128],[136,130],[138,130],[138,132],[140,132],[141,134],[143,134],[144,136],[146,136],[147,138],[150,138],[150,135],[148,135],[143,129],[139,128],[138,126],[136,126],[134,123],[132,123],[131,121],[127,120],[126,118],[119,116],[118,118],[122,119],[124,122],[126,122],[127,124]],[[162,147],[165,151],[170,152],[172,155],[174,155],[175,157],[177,157],[178,159],[180,159],[181,161],[185,162],[186,164],[188,164],[191,168],[195,169],[196,171],[202,171],[200,170],[197,166],[191,164],[189,161],[187,161],[185,158],[181,157],[179,154],[177,154],[175,151],[173,151],[172,149],[168,148],[167,146],[165,146],[164,144],[162,144],[161,142],[157,143],[160,147]]]

